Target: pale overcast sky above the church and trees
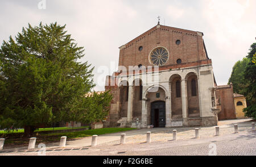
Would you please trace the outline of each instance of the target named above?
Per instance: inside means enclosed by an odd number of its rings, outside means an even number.
[[[44,1],[46,9],[38,7],[42,0],[0,0],[1,45],[28,23],[67,24],[68,34],[85,47],[81,61],[95,66],[96,91],[104,90],[104,79],[98,78],[115,70],[103,74],[100,66],[114,64],[117,68],[118,47],[156,26],[158,15],[162,25],[204,32],[218,85],[228,83],[235,62],[242,60],[256,42],[255,0]]]

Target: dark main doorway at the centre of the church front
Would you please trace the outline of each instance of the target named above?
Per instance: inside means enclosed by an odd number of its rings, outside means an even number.
[[[166,102],[155,101],[151,103],[151,124],[154,127],[166,127]]]

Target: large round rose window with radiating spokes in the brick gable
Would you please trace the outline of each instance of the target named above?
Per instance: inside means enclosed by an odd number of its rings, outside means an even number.
[[[166,49],[162,47],[155,48],[150,53],[150,62],[155,66],[161,66],[166,64],[168,59],[169,59],[169,53]]]

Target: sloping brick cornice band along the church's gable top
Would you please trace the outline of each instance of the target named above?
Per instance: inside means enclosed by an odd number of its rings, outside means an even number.
[[[158,24],[158,25],[156,25],[156,26],[150,28],[150,30],[144,32],[143,34],[141,34],[141,35],[135,37],[133,40],[129,41],[129,42],[126,43],[125,45],[122,45],[121,47],[119,47],[119,49],[121,49],[122,47],[126,46],[127,44],[131,44],[131,43],[133,43],[134,41],[137,41],[137,40],[141,39],[142,37],[146,36],[147,34],[150,34],[150,32],[155,31],[156,28],[164,28],[164,29],[172,30],[172,31],[183,31],[183,32],[187,32],[188,34],[193,34],[193,35],[199,35],[199,34],[201,34],[201,36],[204,36],[204,33],[203,33],[203,32],[185,30],[185,29],[181,29],[181,28],[170,27],[170,26],[163,26],[163,25]]]

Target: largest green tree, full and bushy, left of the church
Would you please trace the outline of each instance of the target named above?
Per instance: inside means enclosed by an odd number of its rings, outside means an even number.
[[[23,28],[0,49],[0,125],[24,127],[79,119],[95,86],[84,48],[57,23]],[[84,107],[84,108],[81,108]],[[104,112],[105,113],[105,112]]]

